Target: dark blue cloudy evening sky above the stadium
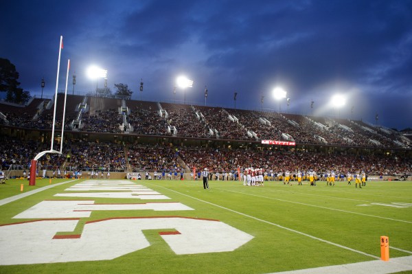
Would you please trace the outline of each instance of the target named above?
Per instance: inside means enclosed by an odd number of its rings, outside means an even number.
[[[21,87],[51,96],[67,59],[75,93],[95,89],[87,67],[108,70],[108,86],[128,84],[133,98],[183,101],[173,86],[194,80],[186,101],[207,105],[363,119],[412,127],[412,1],[3,1],[0,57]],[[139,92],[140,79],[144,91]],[[99,82],[103,86],[103,81]],[[276,101],[274,87],[288,92]],[[73,86],[69,81],[69,93]],[[334,93],[347,96],[339,111]],[[351,109],[353,106],[353,113]]]

